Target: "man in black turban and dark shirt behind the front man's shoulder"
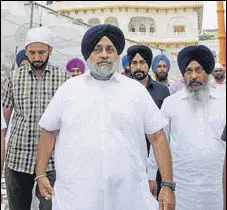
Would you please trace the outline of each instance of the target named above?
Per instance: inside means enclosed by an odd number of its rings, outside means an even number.
[[[169,89],[166,86],[154,81],[148,74],[153,58],[151,49],[145,45],[134,45],[128,48],[127,56],[133,78],[146,87],[155,104],[160,109],[163,100],[166,97],[168,97],[170,93]],[[147,150],[149,153],[150,143],[147,138],[146,140]],[[150,169],[148,169],[150,190],[153,193],[153,195],[157,196],[161,189],[161,175],[160,172],[158,171],[157,177],[152,176],[151,174],[156,174],[155,171],[152,172]],[[157,180],[158,185],[156,184],[155,180]]]

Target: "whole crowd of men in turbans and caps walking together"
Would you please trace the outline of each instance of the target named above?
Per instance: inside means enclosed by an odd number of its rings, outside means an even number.
[[[10,210],[30,210],[35,182],[40,210],[225,210],[225,70],[210,49],[183,48],[171,84],[170,60],[145,45],[127,49],[119,73],[116,26],[90,28],[86,65],[65,70],[49,62],[53,37],[28,32],[1,96]]]

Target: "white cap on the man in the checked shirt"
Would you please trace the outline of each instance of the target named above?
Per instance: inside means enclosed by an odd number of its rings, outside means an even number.
[[[32,28],[27,33],[25,47],[35,42],[41,42],[53,46],[54,34],[52,31],[44,27]]]

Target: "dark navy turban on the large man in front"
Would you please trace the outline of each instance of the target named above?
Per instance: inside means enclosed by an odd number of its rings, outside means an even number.
[[[102,37],[108,37],[117,49],[118,55],[125,47],[125,37],[123,32],[116,26],[110,24],[97,25],[90,28],[83,37],[81,50],[84,59],[87,60]]]

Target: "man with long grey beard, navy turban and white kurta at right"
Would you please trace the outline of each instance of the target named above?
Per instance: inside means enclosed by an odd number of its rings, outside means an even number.
[[[188,46],[177,60],[185,86],[167,97],[161,107],[169,122],[165,132],[173,179],[179,186],[175,209],[223,209],[226,143],[220,137],[226,124],[226,97],[208,84],[214,56],[206,46]]]

